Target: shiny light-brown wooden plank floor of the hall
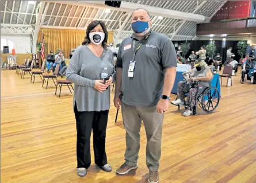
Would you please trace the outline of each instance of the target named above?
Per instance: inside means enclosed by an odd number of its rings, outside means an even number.
[[[240,74],[233,77],[232,87],[221,87],[220,105],[213,114],[200,109],[197,115],[184,117],[183,109],[169,107],[163,126],[162,183],[256,182],[256,85],[240,84],[239,79]],[[116,175],[124,162],[125,130],[121,114],[114,123],[113,103],[106,153],[114,171],[103,172],[92,159],[87,176],[78,177],[72,94],[64,88],[59,98],[54,84],[49,86],[42,88],[40,77],[32,84],[15,71],[1,71],[2,183],[147,182],[144,128],[139,168],[126,176]]]

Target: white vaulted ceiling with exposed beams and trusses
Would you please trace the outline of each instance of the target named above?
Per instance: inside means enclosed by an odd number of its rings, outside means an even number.
[[[40,28],[86,29],[102,20],[115,38],[131,34],[131,12],[144,7],[151,14],[152,29],[171,40],[192,40],[196,24],[207,22],[225,3],[207,1],[122,1],[120,8],[104,1],[0,1],[1,34],[32,34]],[[36,33],[37,34],[37,33]]]

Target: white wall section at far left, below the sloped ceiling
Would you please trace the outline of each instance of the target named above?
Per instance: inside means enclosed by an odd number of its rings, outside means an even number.
[[[16,53],[31,53],[31,41],[30,35],[7,35],[1,34],[1,39],[10,40],[13,42],[13,46]],[[1,44],[2,47],[5,45]],[[9,46],[9,53],[12,53],[12,48]]]

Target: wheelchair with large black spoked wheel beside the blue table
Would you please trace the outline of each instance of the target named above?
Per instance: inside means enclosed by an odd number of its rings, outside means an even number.
[[[203,83],[209,83],[209,87],[205,87]],[[203,111],[207,113],[212,113],[216,110],[220,102],[220,93],[216,87],[211,86],[211,81],[194,81],[194,87],[197,88],[196,91],[196,106],[193,107],[193,115],[196,115],[197,104]],[[178,106],[178,110],[181,106]],[[185,108],[190,108],[189,106],[184,105]]]

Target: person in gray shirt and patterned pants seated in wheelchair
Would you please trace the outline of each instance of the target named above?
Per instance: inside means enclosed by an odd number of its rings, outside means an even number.
[[[188,72],[185,72],[188,73]],[[189,74],[189,73],[188,73]],[[192,114],[193,107],[196,106],[196,92],[197,88],[193,87],[192,81],[202,81],[202,85],[209,87],[208,82],[213,77],[211,69],[207,66],[204,61],[196,60],[196,64],[189,74],[189,79],[186,81],[180,81],[178,84],[177,100],[172,101],[171,104],[175,106],[186,106],[186,111],[183,115],[189,116]],[[185,102],[185,94],[188,93],[188,97]]]

